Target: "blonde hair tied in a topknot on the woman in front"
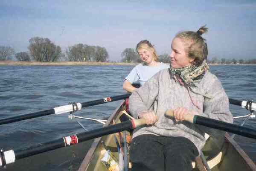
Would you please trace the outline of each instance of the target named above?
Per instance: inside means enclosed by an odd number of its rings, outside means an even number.
[[[194,65],[201,65],[207,59],[207,43],[205,43],[206,40],[201,36],[208,32],[208,28],[205,26],[200,27],[197,32],[186,31],[175,35],[175,38],[180,38],[185,43],[185,51],[189,58],[194,59],[192,62]]]

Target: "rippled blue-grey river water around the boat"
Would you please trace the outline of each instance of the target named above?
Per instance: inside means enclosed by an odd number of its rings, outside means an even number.
[[[124,94],[122,81],[133,65],[108,66],[0,66],[0,119],[54,107],[69,102],[86,102]],[[211,65],[210,71],[222,82],[229,98],[256,100],[256,65]],[[76,116],[107,118],[120,101],[84,108]],[[248,114],[241,107],[230,105],[234,116]],[[102,127],[100,123],[79,119],[85,129]],[[241,124],[243,119],[236,119]],[[256,129],[256,119],[244,126]],[[50,115],[0,126],[0,148],[24,148],[59,139],[84,129],[68,113]],[[256,162],[256,140],[235,136],[236,142]],[[72,148],[63,148],[20,159],[5,170],[73,171],[90,148],[91,141]],[[76,148],[74,148],[76,147]],[[0,168],[0,171],[3,169]]]

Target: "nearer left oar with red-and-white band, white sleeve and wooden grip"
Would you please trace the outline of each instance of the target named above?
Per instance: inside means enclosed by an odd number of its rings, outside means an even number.
[[[65,136],[61,139],[33,145],[27,148],[21,148],[18,150],[9,150],[0,152],[0,166],[6,166],[6,164],[15,162],[17,159],[30,157],[35,154],[44,153],[57,148],[62,148],[70,145],[74,145],[80,142],[87,141],[89,139],[98,138],[112,133],[117,133],[123,130],[134,129],[138,126],[145,125],[145,119],[134,119],[130,121],[121,122],[115,125],[110,125],[104,128],[91,130],[84,133],[78,133],[72,136]]]

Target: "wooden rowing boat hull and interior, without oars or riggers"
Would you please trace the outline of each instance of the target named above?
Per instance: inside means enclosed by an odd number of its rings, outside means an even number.
[[[127,114],[126,105],[125,101],[122,101],[116,110],[114,110],[104,127],[121,122],[122,119],[120,117],[123,117],[124,114],[125,116]],[[126,139],[128,139],[131,136],[131,131],[125,131],[125,134]],[[118,137],[118,141],[116,141],[115,137]],[[108,168],[101,161],[106,151],[111,151],[117,163],[122,163],[118,160],[120,155],[118,145],[124,144],[120,143],[122,142],[122,137],[124,136],[114,133],[94,139],[90,150],[80,165],[79,171],[108,171]],[[206,138],[207,142],[202,149],[201,157],[198,157],[192,162],[193,171],[256,171],[255,163],[228,133],[218,140],[207,135]],[[123,140],[126,141],[126,139]],[[129,146],[129,143],[127,145]],[[207,164],[205,161],[207,161]],[[127,163],[127,168],[124,170],[130,170],[132,167],[130,162],[127,161]],[[122,168],[119,170],[122,170]]]

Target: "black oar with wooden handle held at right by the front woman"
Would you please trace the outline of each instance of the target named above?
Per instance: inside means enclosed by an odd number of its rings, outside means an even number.
[[[173,110],[166,110],[165,115],[167,117],[173,117]],[[251,128],[246,128],[243,126],[218,121],[216,119],[209,119],[198,115],[185,115],[184,120],[194,124],[215,128],[218,130],[224,130],[230,133],[235,133],[237,135],[256,139],[256,130]]]

